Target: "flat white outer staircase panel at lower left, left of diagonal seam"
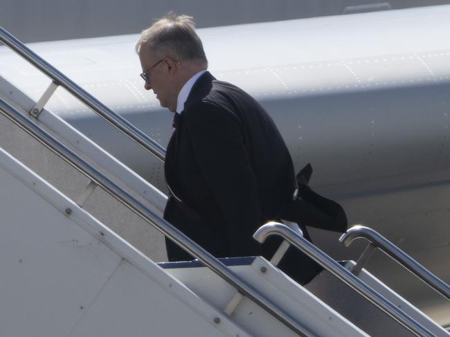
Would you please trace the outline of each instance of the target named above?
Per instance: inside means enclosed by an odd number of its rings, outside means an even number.
[[[67,336],[121,258],[3,169],[0,182],[0,335]]]

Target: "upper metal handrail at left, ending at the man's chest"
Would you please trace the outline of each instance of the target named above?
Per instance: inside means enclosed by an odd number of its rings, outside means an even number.
[[[94,98],[90,93],[82,89],[78,84],[75,84],[72,80],[66,77],[63,73],[55,69],[51,64],[46,62],[42,57],[34,53],[27,46],[21,43],[13,35],[11,35],[7,30],[0,27],[0,41],[6,46],[15,51],[25,60],[33,64],[37,69],[46,74],[53,82],[57,85],[63,86],[64,89],[69,91],[75,98],[78,98],[81,102],[90,107],[94,112],[105,120],[107,120],[111,125],[122,131],[124,134],[132,138],[136,143],[141,145],[151,154],[154,154],[156,158],[164,161],[165,149],[155,140],[143,133],[137,127],[132,125],[130,122],[125,120],[122,116],[118,115],[111,109],[102,104],[99,100]]]

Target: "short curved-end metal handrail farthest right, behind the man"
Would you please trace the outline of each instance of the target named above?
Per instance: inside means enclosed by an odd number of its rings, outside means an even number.
[[[359,225],[353,226],[339,238],[339,241],[345,244],[345,246],[350,246],[355,239],[366,239],[375,248],[379,248],[386,255],[395,259],[395,261],[408,269],[408,271],[411,271],[411,273],[419,277],[420,280],[450,300],[450,286],[447,283],[433,275],[433,273],[417,263],[415,259],[404,253],[404,251],[372,228]]]

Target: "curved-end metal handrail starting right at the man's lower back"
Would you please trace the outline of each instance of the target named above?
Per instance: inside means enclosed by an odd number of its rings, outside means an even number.
[[[330,271],[330,273],[338,277],[339,280],[342,280],[345,284],[350,286],[350,288],[357,291],[368,301],[372,302],[372,304],[375,304],[375,306],[416,336],[435,336],[431,331],[410,318],[406,313],[377,293],[377,291],[370,288],[370,286],[359,280],[358,277],[350,273],[350,271],[343,268],[343,266],[334,261],[334,259],[314,246],[314,244],[308,242],[294,230],[291,230],[291,228],[277,222],[270,222],[269,224],[260,227],[255,234],[253,234],[253,237],[258,242],[263,243],[267,237],[271,235],[280,235],[283,239],[296,246],[300,251],[303,251],[303,253],[314,259],[318,264],[321,264],[327,271]]]

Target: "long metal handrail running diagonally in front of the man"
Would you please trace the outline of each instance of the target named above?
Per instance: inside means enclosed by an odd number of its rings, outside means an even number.
[[[169,224],[150,208],[147,208],[143,203],[132,197],[131,194],[116,185],[114,181],[111,181],[111,179],[107,176],[96,170],[95,167],[87,163],[87,161],[84,161],[80,158],[80,156],[75,154],[75,152],[53,138],[53,136],[36,125],[35,122],[29,118],[26,118],[26,116],[22,115],[19,111],[1,98],[0,113],[12,122],[15,122],[15,124],[21,127],[21,129],[24,129],[24,131],[36,138],[48,149],[51,149],[51,151],[55,152],[55,154],[60,156],[64,161],[75,167],[82,174],[91,179],[91,181],[101,186],[106,192],[111,194],[111,196],[115,197],[118,201],[127,206],[127,208],[134,211],[148,223],[152,224],[152,226],[160,230],[166,237],[169,237],[172,241],[176,242],[179,246],[181,246],[181,248],[190,253],[190,255],[199,259],[199,261],[201,261],[205,266],[208,266],[208,268],[217,273],[217,275],[234,286],[237,291],[240,291],[240,293],[246,295],[256,304],[259,304],[287,327],[295,331],[297,334],[300,334],[300,336],[314,336],[312,331],[309,331],[307,327],[300,325],[289,315],[289,313],[286,313],[278,307],[278,305],[265,298],[264,295],[258,291],[258,289],[255,289],[251,284],[243,280],[237,274],[233,273],[231,269],[222,264],[222,262],[213,257],[213,255],[205,251],[204,248],[201,248],[201,246],[193,242],[180,230]]]

